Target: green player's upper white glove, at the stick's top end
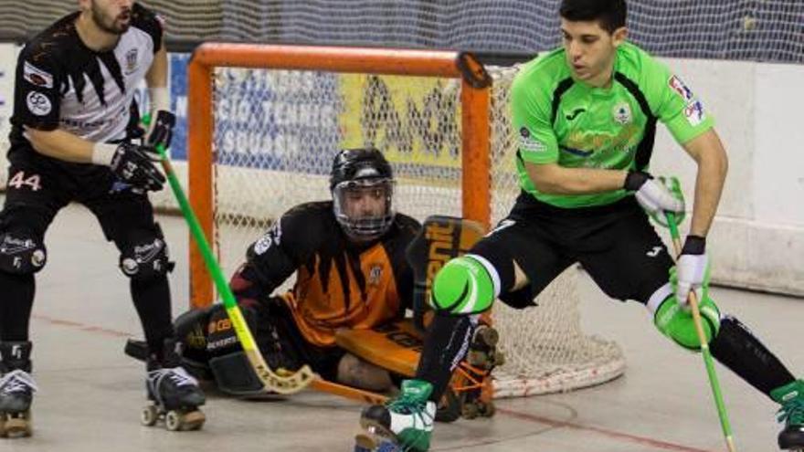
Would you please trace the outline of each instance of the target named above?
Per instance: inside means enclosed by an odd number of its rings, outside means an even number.
[[[649,173],[630,171],[623,188],[635,192],[637,202],[661,226],[668,227],[664,212],[675,214],[677,225],[682,223],[685,215],[684,195],[678,178],[654,179]]]

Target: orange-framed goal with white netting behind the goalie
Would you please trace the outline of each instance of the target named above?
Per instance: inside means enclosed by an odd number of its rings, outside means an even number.
[[[291,206],[330,198],[328,173],[343,147],[385,153],[398,212],[486,225],[506,215],[519,194],[507,94],[516,68],[484,71],[461,58],[355,47],[200,47],[189,68],[190,193],[224,272]],[[491,78],[491,88],[480,76]],[[193,259],[191,272],[194,303],[208,303],[214,295],[203,264]],[[507,362],[495,371],[495,396],[567,391],[623,372],[616,343],[581,331],[575,274],[556,279],[537,308],[496,304],[492,318]]]

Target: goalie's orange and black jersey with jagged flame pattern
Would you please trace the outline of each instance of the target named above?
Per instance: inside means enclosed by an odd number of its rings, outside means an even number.
[[[404,316],[413,292],[405,251],[420,227],[397,214],[383,237],[357,244],[335,219],[332,201],[297,205],[249,247],[231,286],[238,300],[265,300],[296,272],[281,298],[308,342],[332,346],[340,328],[368,329]]]

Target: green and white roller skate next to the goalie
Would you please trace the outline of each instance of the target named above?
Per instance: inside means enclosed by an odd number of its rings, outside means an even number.
[[[436,404],[428,399],[433,387],[421,380],[402,382],[402,393],[386,405],[363,410],[354,452],[425,452],[430,447]]]

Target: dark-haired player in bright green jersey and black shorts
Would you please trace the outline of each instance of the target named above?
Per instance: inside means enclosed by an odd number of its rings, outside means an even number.
[[[416,380],[390,404],[365,409],[368,433],[356,450],[428,450],[434,401],[473,318],[497,298],[531,306],[575,262],[611,298],[644,304],[662,334],[693,351],[700,342],[687,298],[695,290],[714,358],[780,405],[778,446],[804,448],[804,382],[708,294],[705,237],[727,167],[712,115],[681,79],[626,41],[624,0],[563,0],[560,16],[563,48],[525,64],[513,82],[523,194],[470,253],[439,271],[430,300],[438,313]],[[648,173],[657,121],[698,166],[692,226],[675,265],[649,222],[685,210],[680,191]]]

